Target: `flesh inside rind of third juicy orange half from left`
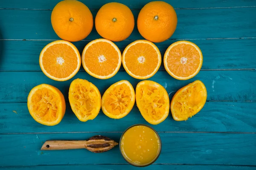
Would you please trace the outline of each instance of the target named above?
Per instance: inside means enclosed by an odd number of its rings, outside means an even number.
[[[157,68],[157,51],[146,43],[132,45],[125,53],[125,65],[132,74],[147,76]]]

